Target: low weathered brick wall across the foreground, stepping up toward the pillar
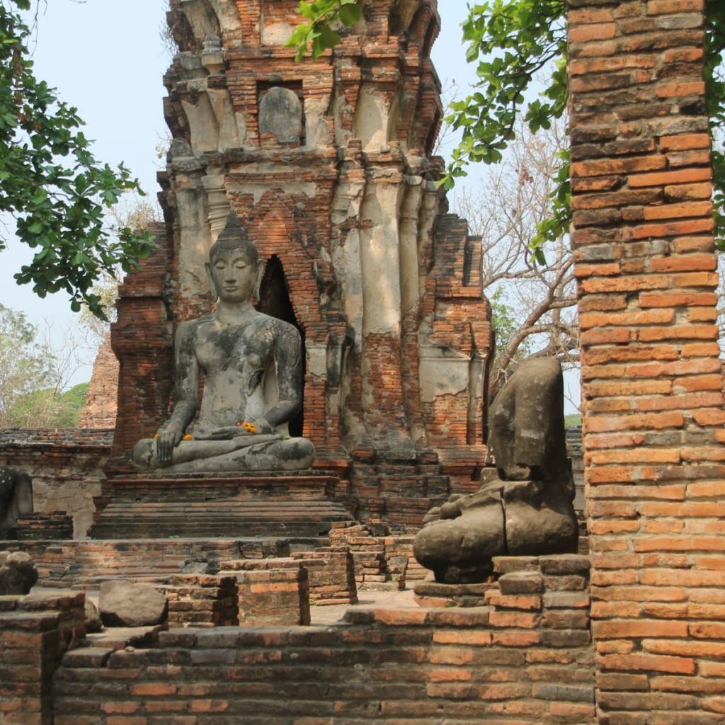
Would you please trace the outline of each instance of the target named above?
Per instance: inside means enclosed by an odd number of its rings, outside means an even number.
[[[587,588],[568,588],[572,576],[586,582],[588,560],[564,559],[526,563],[536,602],[492,589],[482,607],[358,609],[335,627],[177,629],[153,650],[69,655],[54,682],[55,723],[593,725]]]

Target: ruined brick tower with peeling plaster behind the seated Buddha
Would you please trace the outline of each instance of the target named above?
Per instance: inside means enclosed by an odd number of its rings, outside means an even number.
[[[165,415],[173,329],[210,310],[204,260],[233,206],[266,262],[260,309],[305,341],[315,466],[352,481],[363,515],[415,525],[477,487],[492,349],[480,244],[435,183],[436,3],[373,0],[302,63],[293,1],[173,0],[168,17],[167,230],[122,289],[112,468]]]

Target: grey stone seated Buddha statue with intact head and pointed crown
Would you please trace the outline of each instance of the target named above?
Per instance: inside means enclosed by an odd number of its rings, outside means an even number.
[[[167,473],[308,468],[315,447],[287,433],[302,405],[302,341],[297,328],[254,309],[262,263],[235,212],[206,267],[219,306],[178,327],[173,412],[155,439],[136,444],[133,463]]]

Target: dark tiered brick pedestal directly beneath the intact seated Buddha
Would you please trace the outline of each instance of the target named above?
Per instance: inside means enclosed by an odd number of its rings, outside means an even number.
[[[128,476],[107,481],[91,537],[319,537],[349,513],[326,473]]]

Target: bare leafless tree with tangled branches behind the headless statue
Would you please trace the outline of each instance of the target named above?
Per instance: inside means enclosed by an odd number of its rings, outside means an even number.
[[[463,189],[453,207],[468,219],[483,245],[484,291],[492,303],[497,351],[489,395],[500,389],[513,365],[529,355],[578,360],[573,260],[568,239],[544,248],[537,262],[531,240],[551,210],[558,154],[565,147],[561,125],[532,135],[523,125],[506,159],[489,167],[475,192]]]

